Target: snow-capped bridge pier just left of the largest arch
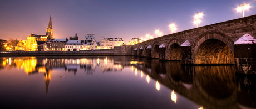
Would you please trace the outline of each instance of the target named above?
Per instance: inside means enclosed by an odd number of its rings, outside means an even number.
[[[191,44],[188,40],[180,45],[181,64],[194,64],[191,51]]]

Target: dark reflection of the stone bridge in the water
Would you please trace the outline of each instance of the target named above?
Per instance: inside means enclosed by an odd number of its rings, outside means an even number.
[[[132,69],[144,72],[203,107],[256,107],[256,90],[253,87],[255,77],[248,79],[248,76],[236,76],[234,66],[184,66],[180,61],[141,59],[138,61],[146,63],[132,64]]]

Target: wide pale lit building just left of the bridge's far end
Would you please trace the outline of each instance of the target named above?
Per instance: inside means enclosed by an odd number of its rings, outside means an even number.
[[[114,46],[122,46],[124,44],[124,40],[122,38],[105,38],[102,37],[100,41],[101,49],[112,49]]]

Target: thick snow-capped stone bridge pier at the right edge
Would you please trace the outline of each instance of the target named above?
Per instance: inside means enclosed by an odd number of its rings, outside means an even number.
[[[256,39],[244,34],[234,43],[236,72],[256,74]]]

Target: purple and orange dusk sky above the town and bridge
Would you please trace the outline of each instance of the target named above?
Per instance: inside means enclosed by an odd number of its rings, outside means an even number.
[[[170,34],[169,24],[178,30],[196,28],[193,16],[203,12],[200,27],[242,17],[235,8],[249,3],[245,17],[256,14],[256,0],[63,0],[63,1],[4,1],[0,0],[0,39],[26,40],[29,34],[45,35],[50,15],[54,38],[68,38],[77,33],[80,40],[86,34],[120,37],[124,43],[134,37],[154,35],[159,29]],[[255,36],[254,36],[255,37]]]

